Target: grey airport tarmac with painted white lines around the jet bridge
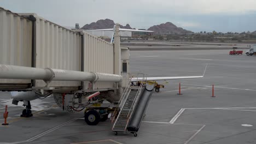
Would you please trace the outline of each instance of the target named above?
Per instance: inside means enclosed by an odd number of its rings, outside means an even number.
[[[7,104],[9,125],[0,125],[0,142],[256,143],[255,59],[229,50],[131,51],[131,72],[148,76],[199,76],[208,65],[202,79],[159,82],[165,88],[153,93],[137,137],[114,135],[109,119],[87,125],[83,112],[64,112],[53,97],[31,101],[34,116],[21,118],[23,107],[1,92],[0,116]]]

